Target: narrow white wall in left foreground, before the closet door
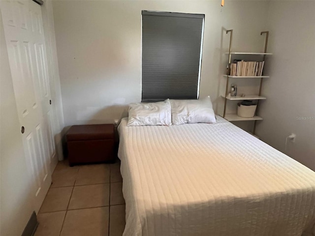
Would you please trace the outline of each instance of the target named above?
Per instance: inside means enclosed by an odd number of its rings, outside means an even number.
[[[1,236],[20,236],[32,214],[30,181],[0,14]]]

